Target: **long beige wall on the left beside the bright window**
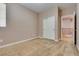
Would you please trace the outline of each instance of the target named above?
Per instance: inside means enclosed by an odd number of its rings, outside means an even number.
[[[0,45],[37,37],[37,14],[19,4],[7,4],[7,27],[0,27]]]

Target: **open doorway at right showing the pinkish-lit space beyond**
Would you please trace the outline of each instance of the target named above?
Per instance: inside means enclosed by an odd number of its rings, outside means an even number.
[[[61,39],[74,42],[75,31],[74,15],[65,15],[61,17]]]

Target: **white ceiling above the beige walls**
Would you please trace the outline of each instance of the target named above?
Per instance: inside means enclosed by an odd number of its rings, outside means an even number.
[[[58,6],[61,9],[73,8],[76,6],[75,3],[22,3],[21,5],[37,13],[53,8],[54,6]]]

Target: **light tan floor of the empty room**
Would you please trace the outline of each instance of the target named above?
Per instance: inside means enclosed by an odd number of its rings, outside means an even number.
[[[72,43],[55,42],[50,39],[33,39],[27,42],[0,48],[1,56],[78,56]]]

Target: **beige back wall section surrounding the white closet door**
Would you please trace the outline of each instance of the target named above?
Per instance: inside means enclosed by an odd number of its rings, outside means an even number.
[[[58,39],[58,8],[57,6],[47,10],[47,11],[44,11],[42,13],[39,13],[39,28],[38,28],[38,31],[39,31],[39,36],[42,37],[42,34],[43,34],[43,27],[42,27],[42,20],[46,17],[50,17],[50,16],[55,16],[56,17],[56,39]]]

